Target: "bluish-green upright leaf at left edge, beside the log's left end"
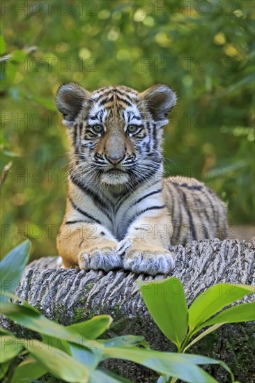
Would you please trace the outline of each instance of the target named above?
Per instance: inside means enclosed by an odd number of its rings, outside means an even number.
[[[26,240],[10,251],[10,253],[1,260],[1,294],[14,292],[16,290],[27,260],[29,259],[30,247],[30,241]]]

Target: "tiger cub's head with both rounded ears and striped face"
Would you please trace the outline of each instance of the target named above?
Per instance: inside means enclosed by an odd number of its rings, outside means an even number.
[[[160,169],[162,127],[176,104],[167,85],[139,93],[107,86],[92,93],[70,82],[56,93],[56,107],[70,129],[72,174],[100,184],[135,185]]]

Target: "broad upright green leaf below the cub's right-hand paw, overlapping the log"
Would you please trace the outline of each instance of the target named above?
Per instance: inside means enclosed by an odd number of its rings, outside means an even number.
[[[183,285],[178,278],[139,282],[144,302],[162,333],[180,347],[187,334],[188,311]]]

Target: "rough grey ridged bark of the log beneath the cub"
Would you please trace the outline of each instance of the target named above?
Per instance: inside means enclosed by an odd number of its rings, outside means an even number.
[[[176,267],[171,275],[183,282],[188,304],[216,283],[255,284],[255,238],[250,242],[217,239],[190,242],[185,247],[172,247],[171,251],[176,254]],[[17,295],[37,307],[47,318],[64,325],[97,314],[110,314],[114,318],[110,336],[142,335],[156,350],[173,350],[150,318],[136,283],[166,276],[144,276],[123,270],[106,273],[58,269],[57,260],[41,258],[31,263]],[[204,338],[192,347],[191,352],[223,359],[233,368],[236,380],[255,382],[253,333],[251,324],[228,325]],[[105,366],[134,382],[155,381],[150,371],[125,361],[107,361]],[[219,382],[229,381],[219,367],[214,366],[210,372]]]

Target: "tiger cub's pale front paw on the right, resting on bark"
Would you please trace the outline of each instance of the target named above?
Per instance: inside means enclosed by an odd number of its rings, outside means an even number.
[[[129,247],[123,257],[124,269],[137,274],[169,274],[174,267],[170,251],[164,248],[134,249]]]

